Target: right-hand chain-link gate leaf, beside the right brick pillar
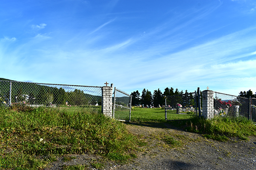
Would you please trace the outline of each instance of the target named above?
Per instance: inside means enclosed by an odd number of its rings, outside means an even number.
[[[167,120],[187,120],[196,116],[195,93],[165,97]]]

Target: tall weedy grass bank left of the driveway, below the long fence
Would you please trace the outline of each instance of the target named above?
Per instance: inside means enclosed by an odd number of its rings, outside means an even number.
[[[84,148],[92,153],[95,149],[108,149],[108,154],[97,154],[124,162],[134,157],[140,145],[123,123],[82,108],[1,108],[0,120],[0,168],[3,169],[43,169],[59,156],[68,161],[72,157],[67,152],[47,152],[63,148],[63,151]]]

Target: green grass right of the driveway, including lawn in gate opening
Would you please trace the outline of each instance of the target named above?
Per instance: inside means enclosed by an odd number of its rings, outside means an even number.
[[[173,113],[168,113],[168,118],[182,116]],[[185,117],[182,117],[185,118]],[[145,122],[158,122],[158,123],[169,123],[172,126],[183,128],[189,132],[197,132],[203,134],[208,139],[214,139],[218,141],[228,141],[231,137],[238,137],[242,140],[247,140],[249,136],[256,136],[255,123],[244,117],[221,117],[216,116],[214,119],[205,120],[198,117],[190,117],[189,120],[175,120],[166,121],[164,109],[161,108],[140,108],[134,107],[131,112],[131,121],[137,123]],[[160,124],[159,124],[160,125]],[[171,140],[171,139],[165,139]]]

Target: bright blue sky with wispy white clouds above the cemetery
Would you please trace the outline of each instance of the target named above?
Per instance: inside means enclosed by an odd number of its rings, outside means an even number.
[[[255,0],[1,0],[0,77],[256,92]]]

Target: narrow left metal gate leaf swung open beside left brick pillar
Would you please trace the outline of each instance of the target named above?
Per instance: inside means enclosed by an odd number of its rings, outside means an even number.
[[[132,96],[115,88],[113,118],[120,121],[131,121]]]

